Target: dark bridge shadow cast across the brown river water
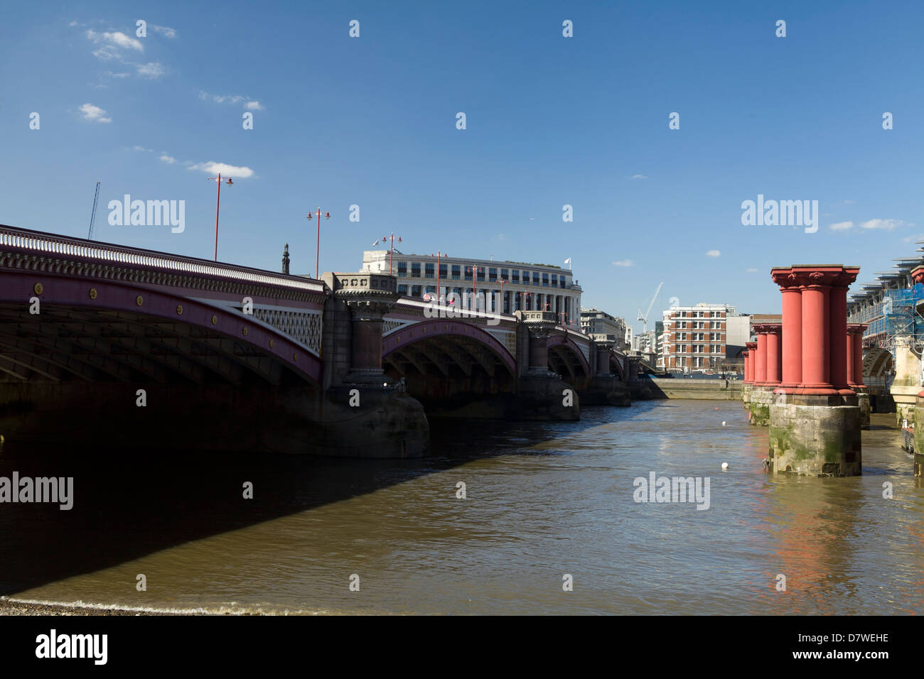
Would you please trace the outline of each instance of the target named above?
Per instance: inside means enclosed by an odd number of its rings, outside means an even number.
[[[645,417],[650,405],[620,409]],[[593,427],[569,423],[437,420],[432,455],[414,460],[268,454],[202,454],[131,448],[0,452],[0,476],[73,477],[73,508],[0,503],[0,595],[122,564],[190,540],[297,514],[327,503]],[[243,498],[246,481],[253,498]]]

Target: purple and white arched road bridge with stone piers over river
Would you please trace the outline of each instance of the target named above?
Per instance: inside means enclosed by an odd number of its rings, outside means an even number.
[[[0,434],[416,456],[428,414],[629,403],[632,364],[603,335],[396,290],[383,273],[314,280],[0,226]]]

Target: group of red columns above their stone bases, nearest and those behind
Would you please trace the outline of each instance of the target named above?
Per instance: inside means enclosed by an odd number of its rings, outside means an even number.
[[[777,267],[773,282],[783,293],[783,322],[754,326],[748,342],[745,383],[790,394],[853,394],[863,384],[865,325],[847,324],[847,287],[859,267],[797,264]]]

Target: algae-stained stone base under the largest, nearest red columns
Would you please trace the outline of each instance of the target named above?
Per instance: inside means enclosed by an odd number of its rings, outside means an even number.
[[[812,477],[863,473],[856,396],[787,394],[770,406],[770,468]]]

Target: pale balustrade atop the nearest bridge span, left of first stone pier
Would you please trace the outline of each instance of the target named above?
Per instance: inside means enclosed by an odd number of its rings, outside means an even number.
[[[0,249],[14,249],[34,253],[47,253],[62,257],[79,258],[100,264],[123,264],[149,267],[172,273],[230,278],[245,283],[278,285],[310,292],[321,292],[324,286],[313,279],[266,272],[234,264],[221,264],[194,257],[173,255],[157,250],[127,248],[109,243],[97,243],[83,238],[56,236],[41,231],[30,231],[14,226],[0,225]]]

